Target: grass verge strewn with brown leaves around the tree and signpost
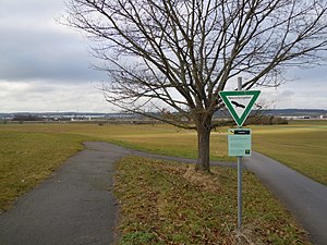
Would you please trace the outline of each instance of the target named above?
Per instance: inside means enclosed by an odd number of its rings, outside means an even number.
[[[120,245],[310,244],[256,177],[243,176],[243,231],[237,224],[237,171],[128,157],[117,164]]]

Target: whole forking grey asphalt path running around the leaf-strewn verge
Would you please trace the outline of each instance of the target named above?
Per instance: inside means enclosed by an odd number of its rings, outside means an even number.
[[[114,162],[126,155],[194,163],[108,143],[84,143],[53,175],[0,216],[1,245],[106,245],[116,240],[118,206],[112,195]],[[234,163],[213,164],[235,167]],[[327,245],[327,187],[263,155],[244,158],[299,219],[315,244]]]

